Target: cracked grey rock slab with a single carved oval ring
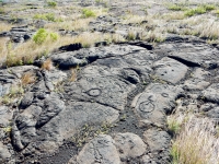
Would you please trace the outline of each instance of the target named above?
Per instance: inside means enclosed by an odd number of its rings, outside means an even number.
[[[114,77],[84,77],[65,86],[66,98],[97,102],[116,109],[124,109],[127,94],[135,85]]]

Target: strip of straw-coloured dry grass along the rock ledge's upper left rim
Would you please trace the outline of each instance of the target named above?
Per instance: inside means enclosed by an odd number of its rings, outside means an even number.
[[[108,39],[108,34],[101,33],[82,33],[78,36],[60,36],[57,40],[46,39],[44,44],[38,45],[28,40],[15,49],[10,50],[7,57],[7,66],[18,66],[23,63],[33,63],[36,58],[48,56],[49,52],[57,50],[59,47],[81,43],[84,48],[92,47],[96,42]],[[13,47],[13,46],[12,46]]]

